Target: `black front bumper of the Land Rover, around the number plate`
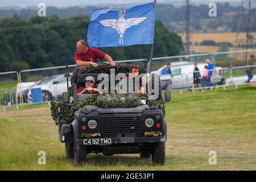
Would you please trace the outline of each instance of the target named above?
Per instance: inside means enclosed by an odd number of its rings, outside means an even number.
[[[153,142],[166,142],[166,136],[162,137],[124,137],[124,138],[111,138],[112,144],[123,143],[153,143]],[[76,139],[77,144],[84,144],[84,139]]]

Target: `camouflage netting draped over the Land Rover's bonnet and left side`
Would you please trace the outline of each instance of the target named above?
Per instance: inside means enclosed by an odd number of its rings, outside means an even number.
[[[146,104],[152,109],[161,109],[165,114],[164,106],[158,100],[148,100],[147,94],[102,94],[92,95],[84,101],[72,106],[64,104],[62,101],[51,102],[51,115],[57,124],[61,118],[67,122],[72,122],[75,111],[89,112],[86,105],[95,105],[101,108],[131,108],[141,104],[141,100],[146,100]],[[60,109],[59,109],[60,108]]]

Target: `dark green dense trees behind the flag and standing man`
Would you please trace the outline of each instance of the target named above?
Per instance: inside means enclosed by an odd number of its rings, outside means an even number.
[[[0,22],[0,72],[75,64],[76,43],[86,40],[89,18],[72,16],[32,16],[23,20],[17,15]],[[150,57],[150,45],[100,48],[114,60]],[[155,22],[154,57],[174,56],[183,50],[175,32]]]

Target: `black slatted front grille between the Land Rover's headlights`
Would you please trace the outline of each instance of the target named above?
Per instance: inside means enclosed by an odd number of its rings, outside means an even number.
[[[101,134],[142,133],[141,114],[101,115]]]

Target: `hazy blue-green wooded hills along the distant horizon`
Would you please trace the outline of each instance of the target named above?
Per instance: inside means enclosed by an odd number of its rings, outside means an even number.
[[[175,4],[175,3],[174,3]],[[240,4],[240,3],[238,3]],[[242,12],[241,6],[235,2],[217,3],[217,17],[210,17],[208,15],[208,4],[193,5],[191,4],[191,28],[192,30],[211,31],[216,30],[217,27],[225,24],[231,31],[246,31],[245,15]],[[232,6],[233,5],[233,6]],[[234,6],[236,5],[236,6]],[[66,8],[57,8],[47,6],[47,16],[56,15],[60,19],[69,18],[71,16],[89,16],[92,9],[122,9],[123,5],[118,7],[102,6],[73,6]],[[156,19],[160,20],[168,30],[174,30],[175,32],[184,32],[185,27],[185,9],[183,6],[175,6],[172,3],[157,3],[156,6]],[[247,16],[248,6],[244,3],[245,14]],[[0,9],[0,19],[11,18],[13,15],[18,15],[24,20],[30,19],[32,16],[36,16],[38,8],[26,8],[26,9]],[[251,17],[256,16],[255,7],[252,4]],[[238,25],[239,24],[239,25]],[[239,28],[238,28],[239,27]],[[238,29],[237,29],[238,28]],[[250,19],[250,31],[256,31],[256,19]]]

